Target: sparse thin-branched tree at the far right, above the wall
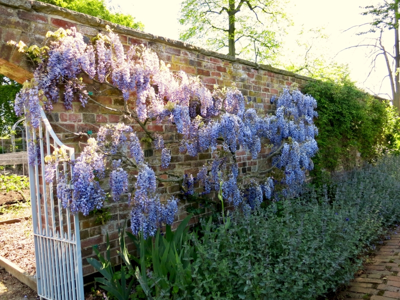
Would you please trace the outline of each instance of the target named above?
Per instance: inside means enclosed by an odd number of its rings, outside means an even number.
[[[377,5],[365,6],[366,9],[362,15],[372,16],[372,22],[362,24],[360,26],[369,25],[369,29],[361,31],[358,34],[374,34],[374,37],[367,37],[367,42],[361,42],[355,46],[365,46],[370,48],[369,58],[371,60],[371,71],[376,65],[376,60],[380,55],[384,57],[384,63],[387,68],[387,75],[390,80],[391,100],[397,109],[400,109],[400,76],[398,70],[400,68],[400,48],[399,48],[399,34],[398,34],[398,5],[399,0],[384,0]],[[393,42],[389,46],[383,43],[382,35],[387,30],[393,32]],[[349,47],[349,48],[351,48]],[[346,48],[347,49],[347,48]],[[383,78],[384,79],[384,78]]]

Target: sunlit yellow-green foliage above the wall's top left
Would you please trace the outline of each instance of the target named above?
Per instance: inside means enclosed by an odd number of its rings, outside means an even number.
[[[104,0],[40,0],[41,2],[60,6],[77,12],[86,13],[115,24],[143,30],[144,24],[136,22],[130,14],[111,12],[104,3]]]

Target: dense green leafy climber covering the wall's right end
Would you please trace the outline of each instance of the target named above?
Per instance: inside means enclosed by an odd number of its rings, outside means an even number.
[[[314,172],[334,171],[339,165],[349,169],[357,151],[373,163],[386,150],[399,149],[400,121],[388,101],[365,93],[348,79],[308,82],[302,91],[317,101],[319,152]]]

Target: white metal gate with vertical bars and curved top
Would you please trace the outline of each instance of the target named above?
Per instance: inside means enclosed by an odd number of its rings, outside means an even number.
[[[62,207],[53,184],[44,179],[44,156],[63,146],[73,159],[74,149],[58,139],[43,109],[38,130],[26,124],[27,140],[32,137],[39,148],[34,164],[29,165],[37,293],[40,299],[83,300],[78,215]],[[68,167],[66,163],[61,165],[56,169],[56,178]]]

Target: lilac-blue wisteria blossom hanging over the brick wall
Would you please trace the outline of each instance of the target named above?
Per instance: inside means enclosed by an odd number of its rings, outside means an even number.
[[[276,113],[262,115],[253,108],[245,108],[246,100],[234,85],[210,91],[198,77],[170,71],[156,53],[144,46],[132,45],[125,52],[118,35],[111,30],[106,35],[98,34],[89,44],[75,28],[49,32],[47,37],[51,41],[48,49],[38,54],[35,83],[26,85],[15,100],[18,115],[27,107],[27,117],[36,128],[40,101],[51,110],[61,93],[60,87],[66,109],[71,108],[75,94],[81,105],[88,101],[100,104],[91,96],[93,92],[87,91],[80,77],[83,73],[107,88],[119,90],[124,105],[117,111],[143,128],[146,144],[161,149],[159,170],[154,172],[155,168],[145,161],[131,126],[118,123],[100,127],[97,137],[89,138],[80,156],[69,162],[71,174],[62,173],[57,179],[57,194],[72,212],[87,215],[100,208],[106,197],[100,180],[109,178],[114,201],[123,194],[131,197],[132,231],[153,235],[158,226],[171,223],[177,211],[174,197],[161,203],[157,194],[157,180],[164,180],[157,175],[169,166],[171,146],[191,156],[210,150],[214,159],[196,177],[166,173],[169,181],[179,183],[186,193],[193,193],[194,183],[200,182],[208,193],[219,190],[222,180],[223,198],[247,210],[258,207],[263,197],[272,197],[276,182],[266,175],[273,168],[283,170],[279,183],[286,186],[286,195],[293,195],[304,181],[306,170],[313,167],[311,157],[317,151],[317,129],[313,124],[316,101],[298,90],[284,89],[275,100]],[[148,123],[161,121],[176,127],[179,140],[166,141],[162,134],[146,129]],[[265,159],[271,159],[272,167],[240,174],[236,150],[244,149],[255,159],[261,143],[267,140],[270,152]],[[36,157],[33,152],[30,155]],[[46,180],[51,181],[56,164],[55,160],[47,163]],[[133,178],[129,168],[137,170],[134,184],[130,183]],[[71,197],[64,195],[71,194],[68,176],[73,185]]]

